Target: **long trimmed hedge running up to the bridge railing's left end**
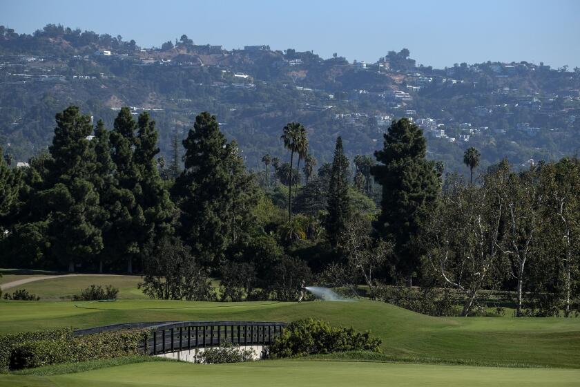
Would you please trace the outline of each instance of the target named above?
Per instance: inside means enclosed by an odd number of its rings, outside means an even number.
[[[79,337],[50,337],[19,343],[10,351],[10,370],[60,364],[66,361],[108,359],[139,355],[139,342],[148,330],[119,330]]]

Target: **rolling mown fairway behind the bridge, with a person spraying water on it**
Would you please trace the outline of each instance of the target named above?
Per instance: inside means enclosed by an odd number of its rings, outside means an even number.
[[[378,301],[351,303],[0,302],[0,333],[173,320],[293,321],[307,317],[371,330],[402,360],[580,368],[580,319],[429,317]]]

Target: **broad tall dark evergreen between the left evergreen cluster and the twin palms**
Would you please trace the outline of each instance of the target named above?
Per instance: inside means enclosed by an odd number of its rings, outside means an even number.
[[[180,234],[208,265],[222,258],[232,238],[232,176],[237,150],[226,142],[215,115],[203,112],[183,142],[185,169],[173,193],[181,209]]]

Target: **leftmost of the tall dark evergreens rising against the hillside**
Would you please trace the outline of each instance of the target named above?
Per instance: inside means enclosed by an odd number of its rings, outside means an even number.
[[[41,192],[48,214],[52,256],[68,263],[94,258],[103,248],[99,193],[91,181],[95,173],[95,152],[88,135],[93,131],[90,116],[77,106],[57,113],[57,128],[50,146],[46,189]]]

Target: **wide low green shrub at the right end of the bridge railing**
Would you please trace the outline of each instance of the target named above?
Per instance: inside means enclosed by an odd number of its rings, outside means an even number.
[[[320,320],[298,320],[290,323],[270,347],[271,357],[300,357],[352,350],[380,352],[381,340],[368,331],[333,327]]]

